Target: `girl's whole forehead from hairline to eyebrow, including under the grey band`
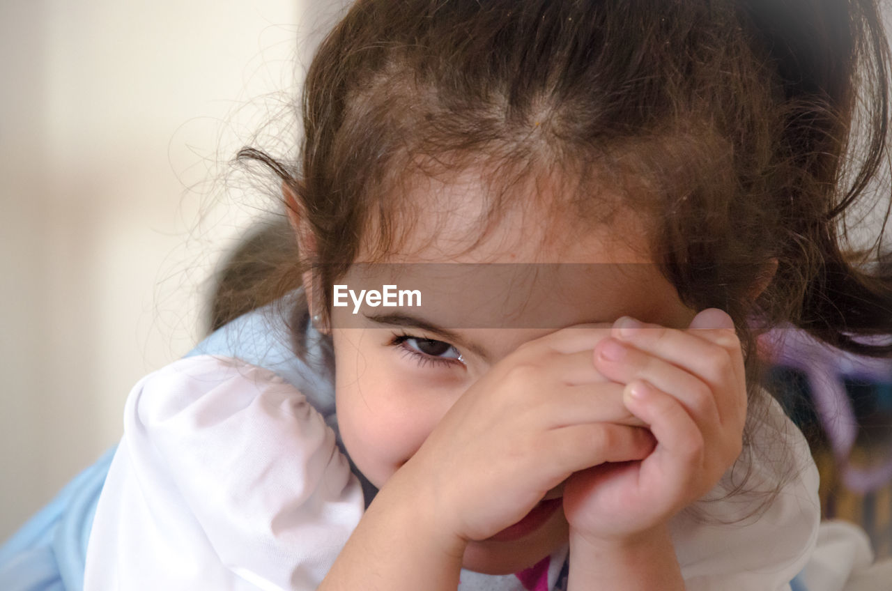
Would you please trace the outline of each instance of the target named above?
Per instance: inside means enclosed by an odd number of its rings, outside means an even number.
[[[614,208],[611,223],[585,224],[551,188],[517,183],[516,193],[505,194],[516,206],[492,221],[491,187],[479,174],[449,183],[422,179],[405,194],[417,216],[398,247],[383,257],[366,251],[339,283],[356,293],[386,285],[417,290],[421,305],[411,310],[382,305],[363,312],[411,313],[448,329],[524,329],[532,336],[626,314],[687,326],[693,313],[648,256],[643,221]],[[337,312],[335,322],[344,326],[361,320]]]

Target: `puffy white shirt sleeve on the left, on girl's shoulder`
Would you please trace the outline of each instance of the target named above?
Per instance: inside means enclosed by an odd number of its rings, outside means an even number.
[[[335,433],[292,385],[187,357],[128,397],[84,588],[315,589],[363,510]]]

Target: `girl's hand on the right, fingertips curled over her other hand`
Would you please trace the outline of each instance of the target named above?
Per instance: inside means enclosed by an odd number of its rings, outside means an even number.
[[[665,525],[705,495],[741,451],[747,415],[743,355],[727,313],[698,313],[689,329],[622,318],[595,348],[595,365],[624,384],[624,404],[657,447],[641,462],[583,470],[564,490],[571,535],[624,542]]]

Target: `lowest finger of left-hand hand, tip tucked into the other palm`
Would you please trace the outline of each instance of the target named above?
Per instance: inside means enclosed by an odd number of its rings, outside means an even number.
[[[551,468],[565,479],[573,472],[604,462],[642,460],[653,452],[657,443],[648,429],[611,423],[555,429],[543,434],[541,441],[551,451]]]

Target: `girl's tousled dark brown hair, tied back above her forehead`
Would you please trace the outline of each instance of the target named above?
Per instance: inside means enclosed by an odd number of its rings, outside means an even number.
[[[551,174],[566,211],[603,223],[610,187],[650,221],[682,302],[734,319],[757,403],[764,329],[892,354],[857,339],[892,334],[892,276],[845,226],[871,195],[888,220],[871,186],[888,63],[875,0],[359,0],[310,65],[297,160],[238,158],[284,181],[315,239],[278,293],[307,265],[330,285],[362,240],[389,252],[418,175],[488,171],[485,221],[516,205],[505,188]]]

